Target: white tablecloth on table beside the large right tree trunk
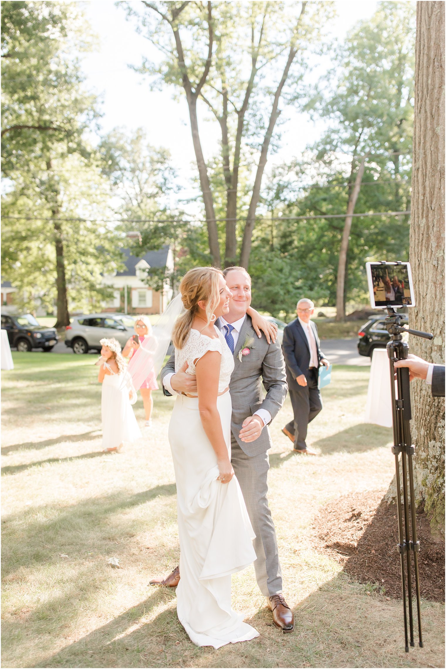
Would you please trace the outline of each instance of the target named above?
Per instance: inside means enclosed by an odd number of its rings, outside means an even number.
[[[392,400],[389,356],[386,349],[373,351],[369,390],[365,405],[365,422],[392,427]]]

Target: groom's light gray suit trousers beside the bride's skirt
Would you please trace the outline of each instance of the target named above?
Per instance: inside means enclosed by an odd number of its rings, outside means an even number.
[[[249,456],[231,435],[231,463],[242,490],[256,538],[253,546],[258,587],[264,597],[282,592],[282,571],[278,559],[276,530],[268,507],[268,453]]]

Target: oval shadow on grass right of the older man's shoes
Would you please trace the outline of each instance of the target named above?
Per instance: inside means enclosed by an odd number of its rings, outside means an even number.
[[[386,446],[392,440],[391,427],[359,423],[314,442],[323,455],[330,453],[363,453]]]

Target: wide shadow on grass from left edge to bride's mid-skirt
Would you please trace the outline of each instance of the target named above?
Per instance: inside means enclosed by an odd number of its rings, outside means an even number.
[[[129,520],[126,510],[146,504],[160,496],[176,494],[176,485],[169,483],[126,496],[117,491],[105,497],[83,500],[73,506],[39,506],[2,520],[3,575],[7,577],[20,567],[35,567],[58,561],[61,553],[73,559],[85,553],[109,553],[110,542],[120,557],[123,539],[138,531],[147,531],[159,518],[140,516]],[[168,520],[168,514],[166,520]],[[122,544],[121,546],[119,544]]]

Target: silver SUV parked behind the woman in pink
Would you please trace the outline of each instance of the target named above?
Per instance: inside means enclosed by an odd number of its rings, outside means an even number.
[[[126,314],[88,314],[74,316],[65,328],[65,346],[73,353],[81,355],[88,351],[100,351],[100,341],[104,337],[118,339],[124,348],[126,341],[133,334],[135,319]]]

